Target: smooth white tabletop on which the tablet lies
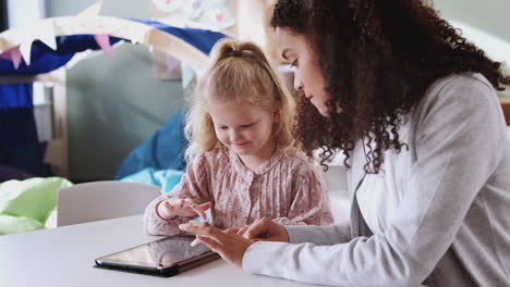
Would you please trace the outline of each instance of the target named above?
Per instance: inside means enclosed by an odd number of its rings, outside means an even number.
[[[0,286],[311,286],[247,274],[221,259],[169,278],[93,267],[96,258],[154,239],[142,215],[0,236]]]

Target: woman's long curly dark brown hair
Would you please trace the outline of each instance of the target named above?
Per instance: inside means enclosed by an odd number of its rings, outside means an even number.
[[[398,134],[403,115],[440,77],[476,72],[498,90],[510,84],[501,63],[422,0],[279,0],[271,25],[305,36],[318,57],[330,116],[301,100],[296,136],[308,155],[323,149],[326,170],[337,149],[349,166],[354,142],[367,138],[364,169],[378,173],[385,150],[406,148]]]

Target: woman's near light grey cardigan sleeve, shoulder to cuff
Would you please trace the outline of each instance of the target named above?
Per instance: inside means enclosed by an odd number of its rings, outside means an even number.
[[[446,83],[415,112],[417,159],[384,234],[332,246],[256,242],[246,251],[243,269],[312,284],[420,286],[452,245],[471,202],[495,171],[502,157],[497,142],[506,134],[494,90],[473,78]],[[290,234],[293,241],[333,241],[314,239],[312,229]]]

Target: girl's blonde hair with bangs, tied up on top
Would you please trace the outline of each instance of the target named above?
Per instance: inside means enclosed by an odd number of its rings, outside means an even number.
[[[211,96],[220,101],[234,100],[278,112],[279,121],[275,123],[272,136],[279,149],[284,152],[298,149],[293,137],[295,101],[260,48],[250,41],[222,39],[215,45],[210,55],[210,64],[191,97],[184,128],[190,140],[185,154],[187,162],[220,145],[207,110]]]

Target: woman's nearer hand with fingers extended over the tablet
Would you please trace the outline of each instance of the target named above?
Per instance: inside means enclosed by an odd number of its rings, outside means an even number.
[[[222,259],[240,267],[242,267],[244,253],[253,244],[252,240],[235,234],[235,232],[221,230],[207,222],[189,222],[179,225],[179,228],[196,234],[192,246],[205,244]]]

